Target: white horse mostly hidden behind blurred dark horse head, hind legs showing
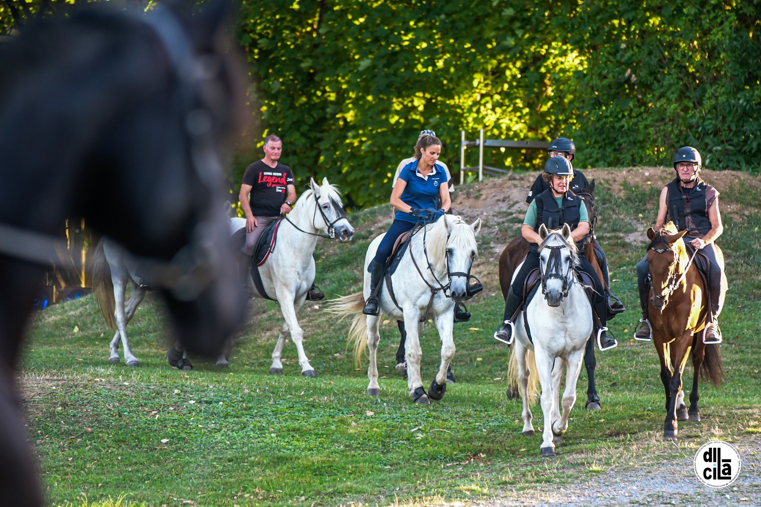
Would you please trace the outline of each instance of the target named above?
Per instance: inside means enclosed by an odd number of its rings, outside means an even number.
[[[122,247],[110,239],[103,238],[98,242],[90,256],[91,286],[103,319],[111,329],[116,329],[109,344],[109,363],[119,363],[119,341],[124,350],[124,363],[127,366],[140,366],[140,360],[132,353],[127,338],[127,325],[135,316],[138,306],[145,298],[146,291],[140,288],[140,277],[135,274],[138,261]],[[126,300],[127,287],[132,286],[129,299]],[[230,353],[232,341],[228,343],[217,358],[217,366],[228,366],[227,356]],[[167,360],[171,366],[181,369],[193,369],[193,364],[187,359],[187,354],[180,341],[167,351]],[[180,363],[180,361],[182,361]]]

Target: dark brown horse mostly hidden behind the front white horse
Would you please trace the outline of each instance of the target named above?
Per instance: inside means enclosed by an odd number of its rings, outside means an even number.
[[[590,217],[591,241],[587,242],[586,246],[584,246],[584,257],[587,258],[587,261],[594,268],[597,277],[600,277],[600,280],[604,280],[603,271],[597,262],[597,255],[594,254],[594,246],[597,243],[597,238],[594,236],[594,226],[597,225],[597,211],[594,209],[594,179],[590,182],[589,186],[575,193],[584,199],[584,205],[587,207],[587,214]],[[502,289],[502,296],[505,299],[508,297],[508,290],[510,290],[510,284],[516,268],[526,258],[528,245],[529,243],[526,239],[521,234],[518,234],[508,243],[508,246],[505,246],[505,249],[499,256],[499,285]],[[594,369],[597,368],[597,359],[594,356],[594,340],[587,341],[587,347],[584,350],[584,367],[587,369],[587,379],[589,379],[589,384],[587,385],[587,404],[585,406],[587,410],[597,410],[601,407],[601,404],[600,397],[597,395],[597,387],[594,384]],[[517,390],[514,388],[508,388],[507,392],[508,398],[515,399],[518,397]]]

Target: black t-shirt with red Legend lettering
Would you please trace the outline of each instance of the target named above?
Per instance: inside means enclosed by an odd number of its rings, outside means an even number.
[[[277,217],[288,195],[288,185],[294,184],[293,171],[278,162],[273,169],[257,160],[246,168],[244,185],[251,185],[249,202],[255,217]]]

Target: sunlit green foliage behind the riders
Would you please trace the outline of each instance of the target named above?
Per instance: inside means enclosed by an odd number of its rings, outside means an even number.
[[[245,0],[239,38],[284,160],[364,206],[387,198],[422,128],[455,169],[460,130],[473,139],[485,128],[486,138],[568,136],[581,166],[660,165],[691,144],[712,168],[757,170],[758,12],[717,0]],[[542,158],[485,153],[487,165],[519,169]]]

